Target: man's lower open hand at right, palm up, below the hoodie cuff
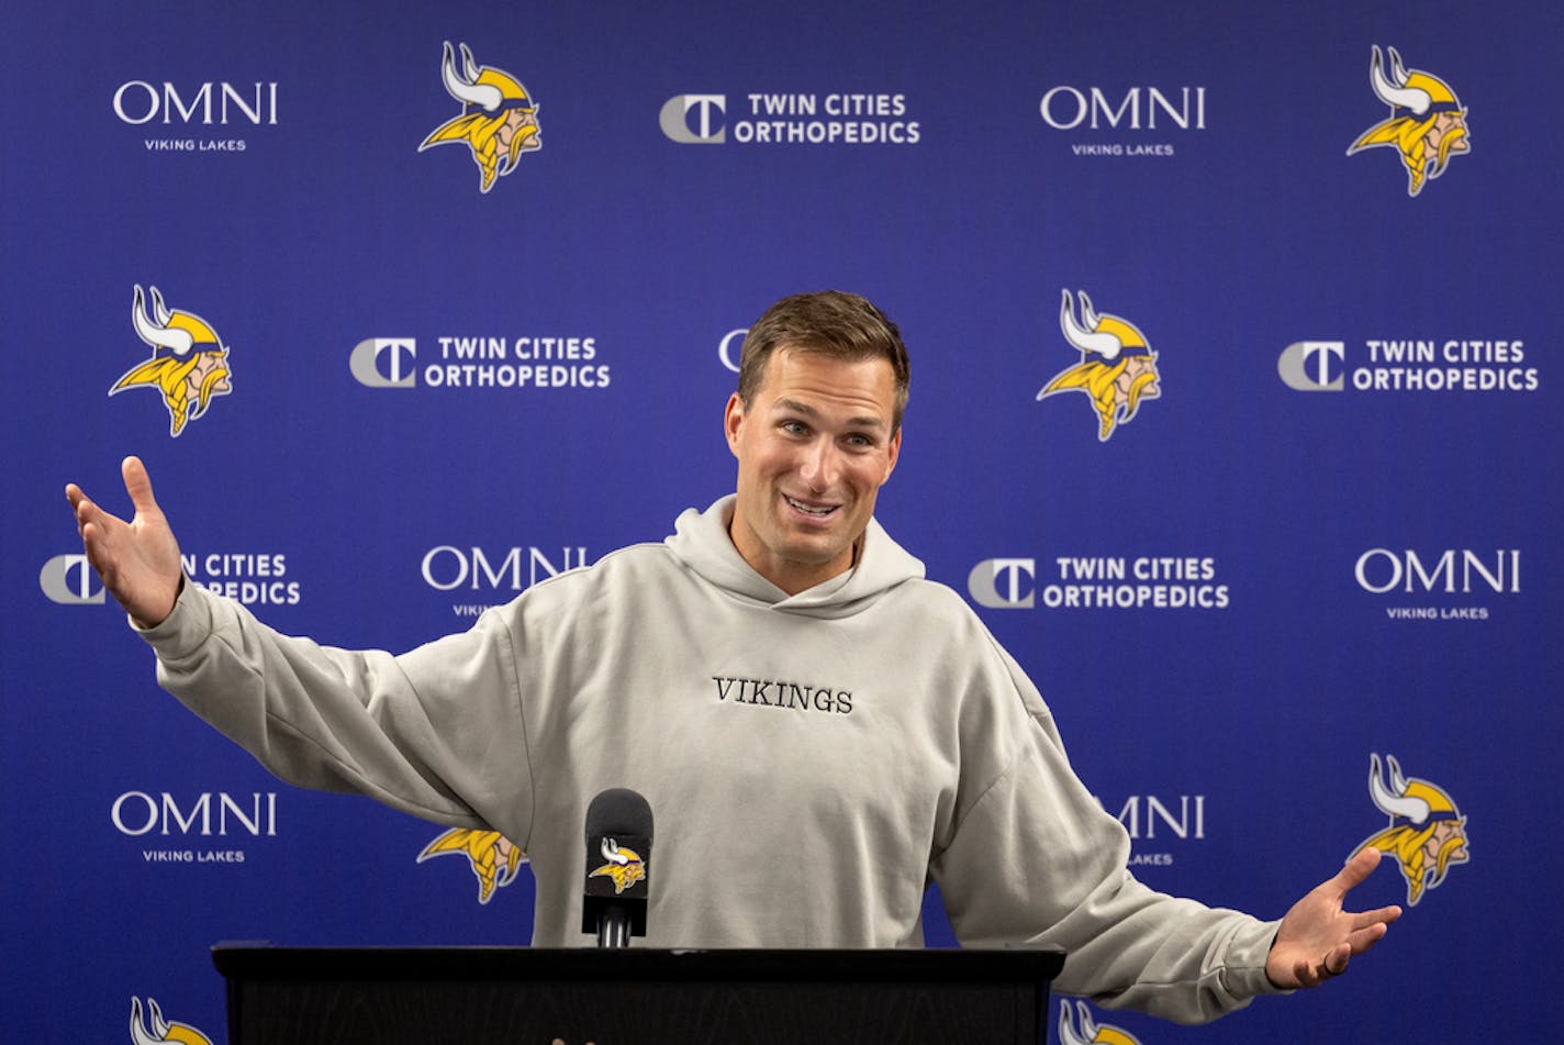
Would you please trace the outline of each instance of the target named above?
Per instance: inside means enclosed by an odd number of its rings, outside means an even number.
[[[1379,865],[1379,849],[1353,856],[1333,878],[1292,906],[1276,929],[1265,959],[1265,975],[1281,989],[1317,987],[1347,971],[1354,954],[1379,942],[1401,917],[1397,906],[1378,910],[1342,910],[1347,893]]]

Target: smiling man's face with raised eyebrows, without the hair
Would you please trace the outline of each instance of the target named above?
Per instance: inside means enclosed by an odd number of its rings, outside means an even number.
[[[854,544],[901,451],[887,360],[843,363],[787,347],[744,404],[727,400],[738,458],[730,533],[738,554],[788,594],[852,565]]]

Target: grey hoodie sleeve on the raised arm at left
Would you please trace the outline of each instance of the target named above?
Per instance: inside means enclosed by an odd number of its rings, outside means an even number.
[[[139,634],[160,685],[280,779],[526,845],[532,774],[500,612],[393,657],[280,635],[186,584],[174,613]]]

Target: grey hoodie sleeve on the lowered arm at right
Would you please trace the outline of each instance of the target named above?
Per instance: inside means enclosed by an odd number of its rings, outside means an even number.
[[[1123,824],[1074,776],[1042,696],[995,649],[1009,701],[1018,698],[1018,713],[998,718],[1018,735],[932,862],[962,943],[1065,951],[1057,990],[1178,1023],[1275,992],[1265,956],[1276,923],[1135,881]]]

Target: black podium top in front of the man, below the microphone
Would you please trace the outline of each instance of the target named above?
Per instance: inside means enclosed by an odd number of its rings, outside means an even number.
[[[230,1045],[1048,1040],[1053,951],[221,943]]]

